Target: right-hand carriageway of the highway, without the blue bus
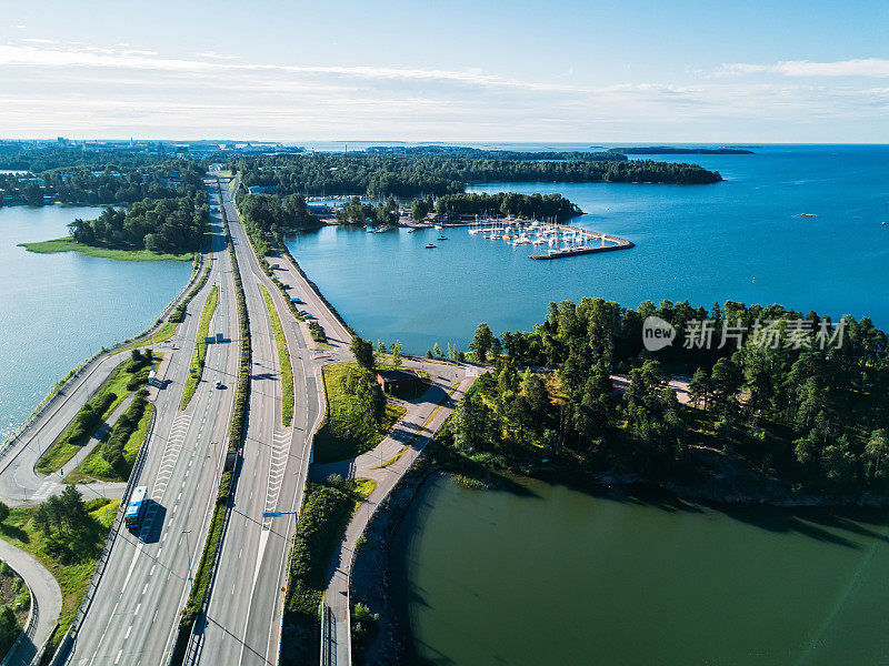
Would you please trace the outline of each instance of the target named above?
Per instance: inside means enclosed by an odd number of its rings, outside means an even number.
[[[227,191],[223,186],[223,191]],[[243,458],[234,507],[224,535],[206,626],[196,662],[277,664],[282,588],[296,518],[302,501],[311,433],[321,415],[317,367],[303,332],[278,287],[253,254],[233,204],[227,202],[232,241],[241,269],[253,343],[253,367]],[[281,422],[282,391],[278,352],[260,286],[271,295],[290,350],[294,408],[289,426]],[[294,294],[296,295],[296,294]]]

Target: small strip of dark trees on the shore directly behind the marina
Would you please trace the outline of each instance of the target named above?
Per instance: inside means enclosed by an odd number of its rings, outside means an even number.
[[[581,212],[561,194],[446,194],[436,201],[436,213],[440,215],[519,215],[562,221]]]

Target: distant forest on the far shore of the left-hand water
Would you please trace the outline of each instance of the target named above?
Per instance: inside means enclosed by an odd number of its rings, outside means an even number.
[[[34,175],[36,173],[36,175]],[[188,160],[168,160],[149,167],[124,169],[116,164],[70,167],[27,175],[0,174],[0,205],[126,205],[143,199],[194,196],[203,169]]]

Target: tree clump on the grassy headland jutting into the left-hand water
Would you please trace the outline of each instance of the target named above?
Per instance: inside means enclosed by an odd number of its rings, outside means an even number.
[[[181,254],[199,251],[207,229],[206,198],[144,200],[128,209],[108,208],[96,220],[68,225],[78,243],[122,250]]]

